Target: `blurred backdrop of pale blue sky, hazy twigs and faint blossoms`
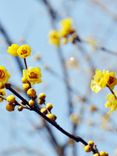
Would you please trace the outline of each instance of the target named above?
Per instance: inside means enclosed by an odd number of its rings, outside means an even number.
[[[28,65],[41,67],[43,73],[43,83],[35,88],[53,103],[57,123],[86,141],[93,139],[111,156],[117,156],[116,112],[110,118],[106,114],[108,89],[94,94],[89,85],[96,68],[117,71],[116,8],[116,0],[0,0],[0,65],[11,73],[10,82],[24,94],[23,62],[8,55],[6,48],[28,43],[32,47]],[[50,30],[58,29],[66,17],[72,18],[86,44],[56,48],[48,43]],[[46,125],[34,112],[8,113],[5,103],[0,106],[0,136],[1,156],[88,155],[80,143]]]

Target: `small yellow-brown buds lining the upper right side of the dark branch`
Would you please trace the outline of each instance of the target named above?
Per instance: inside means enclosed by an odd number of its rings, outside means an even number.
[[[41,113],[45,114],[51,121],[55,122],[56,116],[51,113],[53,105],[51,103],[46,103],[46,94],[40,93],[38,97],[38,104],[40,105]]]

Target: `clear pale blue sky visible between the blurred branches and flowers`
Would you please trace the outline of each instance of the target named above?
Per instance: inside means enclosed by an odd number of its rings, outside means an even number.
[[[111,10],[116,12],[115,6],[109,3],[109,0],[107,1],[107,6],[110,6]],[[117,28],[112,17],[105,13],[101,8],[91,3],[90,0],[76,1],[74,2],[74,5],[67,0],[51,0],[51,3],[62,17],[68,15],[73,18],[75,28],[82,38],[93,36],[101,45],[112,50],[117,49]],[[67,9],[71,9],[72,11],[69,12]],[[70,121],[67,117],[67,97],[63,82],[46,72],[41,63],[34,61],[34,56],[40,53],[44,62],[62,76],[56,48],[48,44],[48,32],[51,30],[51,24],[43,3],[41,3],[41,0],[40,2],[37,0],[0,0],[0,22],[4,25],[14,42],[19,42],[24,38],[32,47],[33,52],[32,56],[28,59],[28,64],[30,66],[40,66],[43,71],[43,84],[40,84],[36,88],[38,92],[45,91],[47,93],[48,101],[54,104],[53,112],[58,116],[58,123],[70,131]],[[0,64],[7,67],[12,73],[11,81],[21,85],[17,66],[13,58],[6,53],[3,38],[1,37],[0,39]],[[70,78],[73,82],[73,86],[84,94],[86,92],[86,86],[88,85],[88,75],[86,73],[87,64],[82,60],[75,47],[68,45],[63,47],[63,50],[65,58],[76,56],[81,63],[80,69],[70,71]],[[116,57],[105,55],[101,52],[94,53],[89,48],[87,48],[87,50],[92,55],[97,68],[114,69],[117,71]],[[45,87],[46,84],[48,87]],[[105,111],[103,103],[105,102],[104,96],[106,93],[107,90],[98,95],[92,95],[92,100],[102,111]],[[55,155],[53,149],[47,143],[47,137],[44,136],[44,133],[38,135],[31,125],[31,121],[38,124],[39,117],[37,115],[27,111],[23,111],[22,113],[18,113],[17,111],[8,113],[4,107],[5,104],[1,104],[0,133],[2,134],[2,144],[0,145],[0,151],[10,147],[27,146],[38,149],[42,153],[44,151],[44,153],[48,153],[49,156]],[[79,109],[79,106],[77,106],[77,109]],[[116,113],[113,115],[113,120],[116,117],[115,115]],[[97,120],[96,115],[94,115],[93,118]],[[60,142],[65,141],[66,138],[63,137],[60,132],[55,130],[55,134],[57,138],[60,139]],[[113,141],[116,137],[115,134],[99,130],[98,128],[90,128],[88,126],[86,129],[85,125],[82,125],[82,127],[78,129],[78,134],[81,134],[81,136],[84,136],[86,139],[94,139],[101,150],[107,150],[110,155],[113,155],[113,151],[116,148],[115,141]],[[111,140],[110,143],[109,139]],[[111,142],[114,142],[113,145]],[[83,151],[82,146],[78,146],[81,149],[80,152]],[[81,152],[81,154],[85,155],[83,152]],[[26,154],[24,154],[24,156],[25,155]],[[14,156],[19,156],[19,154],[16,153]]]

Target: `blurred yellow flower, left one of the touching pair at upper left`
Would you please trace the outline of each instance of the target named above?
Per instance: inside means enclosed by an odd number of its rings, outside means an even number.
[[[11,46],[8,47],[7,52],[10,55],[18,56],[18,54],[17,54],[18,48],[19,48],[19,45],[18,44],[11,44]]]

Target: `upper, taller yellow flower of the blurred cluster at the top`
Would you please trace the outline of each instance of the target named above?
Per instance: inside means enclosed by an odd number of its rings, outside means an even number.
[[[60,36],[61,37],[66,37],[67,35],[69,35],[72,31],[72,19],[71,18],[65,18],[63,20],[61,20],[60,22]]]

